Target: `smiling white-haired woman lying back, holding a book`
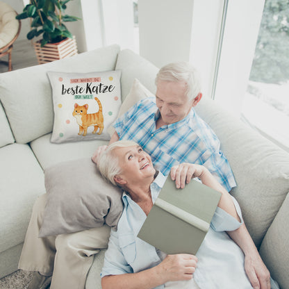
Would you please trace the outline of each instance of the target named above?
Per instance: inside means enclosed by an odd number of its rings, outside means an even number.
[[[226,234],[242,224],[236,199],[206,167],[184,163],[172,167],[177,188],[192,178],[222,193],[210,229],[196,256],[166,255],[137,237],[165,176],[157,172],[150,156],[135,142],[114,142],[99,156],[101,174],[124,189],[124,211],[117,231],[111,231],[102,288],[252,288],[244,268],[244,254]],[[261,288],[270,288],[270,281]]]

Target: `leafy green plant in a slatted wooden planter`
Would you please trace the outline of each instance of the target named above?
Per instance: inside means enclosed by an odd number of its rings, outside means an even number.
[[[41,38],[33,42],[38,63],[72,56],[77,53],[76,40],[67,30],[65,22],[80,18],[65,15],[67,3],[71,0],[31,0],[17,19],[31,18],[31,31],[27,39]]]

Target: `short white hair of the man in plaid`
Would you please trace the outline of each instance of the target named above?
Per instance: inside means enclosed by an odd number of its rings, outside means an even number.
[[[201,92],[201,79],[195,67],[190,63],[170,63],[160,68],[156,75],[155,83],[158,81],[183,82],[187,86],[186,94],[190,100],[195,99]]]

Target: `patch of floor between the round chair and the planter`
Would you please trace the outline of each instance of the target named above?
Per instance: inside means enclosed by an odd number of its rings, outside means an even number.
[[[8,56],[0,58],[0,73],[8,72],[8,65],[2,63],[2,60],[8,60]],[[16,70],[33,65],[38,65],[38,62],[31,42],[26,39],[15,41],[12,50],[12,69]]]

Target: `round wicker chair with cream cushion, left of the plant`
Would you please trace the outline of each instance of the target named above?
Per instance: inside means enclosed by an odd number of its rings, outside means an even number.
[[[13,43],[21,29],[21,22],[15,19],[16,15],[17,13],[11,6],[0,1],[0,58],[8,54],[8,62],[1,61],[1,63],[8,64],[8,71],[12,70]]]

